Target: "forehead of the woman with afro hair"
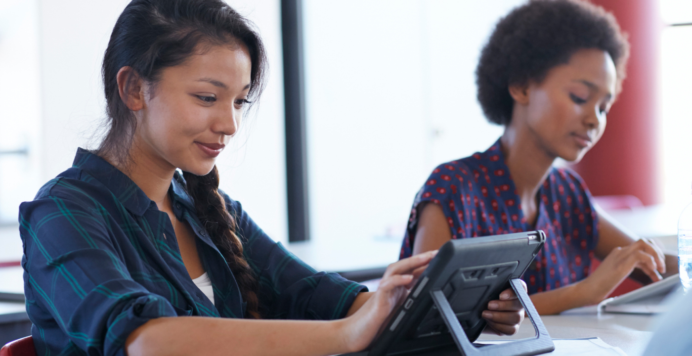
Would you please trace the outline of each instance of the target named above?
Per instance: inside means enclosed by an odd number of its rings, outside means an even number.
[[[617,71],[608,52],[599,49],[581,49],[576,51],[567,63],[555,66],[548,71],[545,79],[585,80],[595,84],[604,93],[614,94]]]

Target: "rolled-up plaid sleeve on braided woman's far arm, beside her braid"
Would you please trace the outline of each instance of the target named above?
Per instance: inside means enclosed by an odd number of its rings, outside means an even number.
[[[237,221],[244,254],[260,283],[260,308],[275,319],[331,320],[346,316],[356,296],[367,287],[336,273],[317,272],[269,238],[243,211],[239,202],[225,196],[228,211]]]

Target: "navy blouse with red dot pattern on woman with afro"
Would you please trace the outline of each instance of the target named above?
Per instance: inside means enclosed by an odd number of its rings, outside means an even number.
[[[529,294],[581,281],[589,275],[598,242],[591,194],[572,170],[551,168],[538,190],[536,225],[527,223],[498,140],[486,152],[437,166],[416,195],[400,258],[411,256],[418,227],[418,206],[441,206],[452,238],[474,238],[543,230],[543,249],[522,279]]]

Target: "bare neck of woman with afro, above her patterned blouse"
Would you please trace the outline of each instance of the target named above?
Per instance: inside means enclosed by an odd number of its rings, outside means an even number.
[[[536,194],[555,161],[544,150],[528,125],[512,119],[500,138],[502,154],[522,204],[535,202]]]

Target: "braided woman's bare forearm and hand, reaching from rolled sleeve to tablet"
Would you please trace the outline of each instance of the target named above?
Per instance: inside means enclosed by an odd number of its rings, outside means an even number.
[[[435,252],[393,263],[380,288],[350,317],[334,321],[284,321],[177,317],[155,319],[132,332],[127,355],[334,355],[363,350],[415,275]],[[362,297],[364,298],[364,297]]]

